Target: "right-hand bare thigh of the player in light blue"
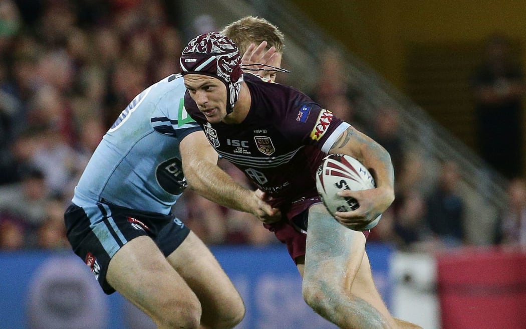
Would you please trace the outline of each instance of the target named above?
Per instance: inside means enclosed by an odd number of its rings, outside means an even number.
[[[167,260],[199,298],[205,322],[206,318],[244,315],[245,306],[236,287],[208,247],[193,232]]]

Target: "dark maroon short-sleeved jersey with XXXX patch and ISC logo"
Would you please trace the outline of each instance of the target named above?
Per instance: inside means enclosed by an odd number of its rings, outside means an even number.
[[[272,206],[318,197],[315,174],[321,159],[349,126],[290,86],[245,74],[250,111],[241,124],[210,124],[188,92],[185,107],[222,157],[236,165]]]

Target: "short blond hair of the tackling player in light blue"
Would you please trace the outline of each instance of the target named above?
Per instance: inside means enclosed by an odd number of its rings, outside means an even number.
[[[247,51],[251,43],[258,46],[263,41],[267,42],[267,49],[274,46],[278,53],[282,53],[285,47],[283,33],[265,18],[257,16],[247,16],[230,23],[220,33],[234,41],[241,54]]]

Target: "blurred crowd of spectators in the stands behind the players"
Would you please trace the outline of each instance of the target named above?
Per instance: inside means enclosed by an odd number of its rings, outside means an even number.
[[[98,142],[135,95],[178,72],[188,36],[174,3],[0,1],[0,250],[69,248],[63,212]],[[359,95],[340,77],[341,58],[324,56],[318,87],[304,92],[386,147],[395,165],[395,203],[369,241],[424,251],[469,245],[458,164],[443,162],[430,177],[423,154],[404,145],[397,111],[363,119]],[[487,243],[526,246],[526,183],[510,178],[509,206]],[[257,218],[188,190],[174,213],[207,244],[278,243]]]

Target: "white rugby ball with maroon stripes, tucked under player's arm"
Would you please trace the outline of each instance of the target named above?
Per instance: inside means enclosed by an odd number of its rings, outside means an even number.
[[[316,172],[316,188],[331,215],[337,211],[356,210],[360,206],[355,198],[339,196],[338,192],[369,190],[375,186],[375,179],[367,168],[357,159],[345,154],[329,154],[322,159]],[[360,231],[375,227],[381,217],[379,215]]]

